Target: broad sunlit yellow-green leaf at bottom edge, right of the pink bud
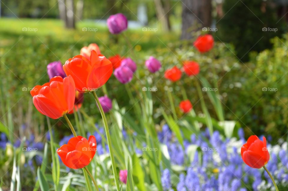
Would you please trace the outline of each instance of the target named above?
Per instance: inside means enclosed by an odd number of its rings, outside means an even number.
[[[145,191],[144,185],[144,172],[142,166],[140,165],[140,159],[134,153],[132,156],[132,164],[133,164],[133,178],[136,186],[140,191]]]

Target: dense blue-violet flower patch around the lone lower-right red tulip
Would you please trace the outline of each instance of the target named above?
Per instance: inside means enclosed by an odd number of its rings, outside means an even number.
[[[161,178],[164,190],[268,191],[272,189],[273,184],[267,173],[250,168],[243,163],[240,148],[246,140],[242,129],[238,130],[239,140],[236,138],[224,139],[218,131],[215,131],[211,137],[207,131],[198,135],[192,134],[190,141],[184,140],[184,148],[187,149],[189,145],[193,144],[198,145],[201,151],[196,151],[194,160],[190,163],[184,160],[187,158],[187,151],[183,151],[182,146],[174,137],[175,135],[168,125],[164,125],[158,132],[160,142],[167,145],[171,165],[183,166],[185,170],[179,175],[179,181],[171,183],[170,175],[173,175],[174,172],[165,169]],[[282,184],[287,188],[288,154],[285,144],[278,151],[276,148],[272,149],[270,161],[266,167],[278,185]],[[175,174],[177,173],[175,172]],[[174,185],[173,188],[169,187],[170,185]]]

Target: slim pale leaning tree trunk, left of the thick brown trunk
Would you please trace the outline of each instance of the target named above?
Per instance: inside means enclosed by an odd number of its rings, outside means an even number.
[[[169,22],[169,12],[170,12],[170,1],[165,1],[165,7],[163,6],[161,0],[154,0],[156,7],[156,15],[158,20],[162,24],[164,31],[170,31],[170,22]]]

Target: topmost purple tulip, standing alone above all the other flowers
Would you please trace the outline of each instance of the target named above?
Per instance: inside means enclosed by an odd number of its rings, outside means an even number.
[[[107,25],[110,33],[119,34],[127,29],[128,21],[125,15],[118,13],[109,16],[107,19]]]

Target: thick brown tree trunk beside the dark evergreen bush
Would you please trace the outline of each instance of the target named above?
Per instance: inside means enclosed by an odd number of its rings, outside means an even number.
[[[182,0],[182,36],[191,39],[192,32],[211,26],[211,0]]]

